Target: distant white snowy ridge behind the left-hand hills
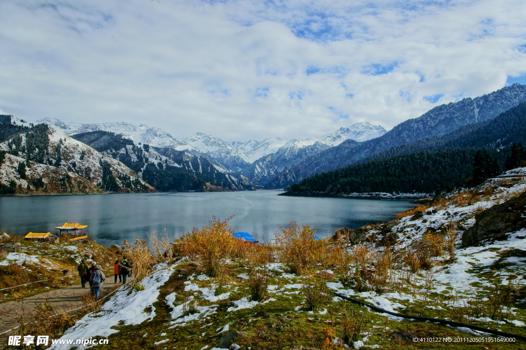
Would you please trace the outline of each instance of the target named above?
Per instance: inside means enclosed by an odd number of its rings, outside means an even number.
[[[74,135],[90,131],[109,131],[116,134],[123,135],[126,139],[130,139],[135,143],[148,144],[154,147],[177,147],[181,143],[174,139],[169,133],[156,128],[149,128],[146,124],[139,124],[139,126],[125,123],[69,123],[66,124],[56,118],[44,118],[37,121],[37,123],[46,123],[54,129],[58,129],[68,135]]]

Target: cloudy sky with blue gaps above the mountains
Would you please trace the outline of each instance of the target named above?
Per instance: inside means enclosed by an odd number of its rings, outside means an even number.
[[[177,139],[390,129],[526,83],[523,0],[2,0],[0,109]]]

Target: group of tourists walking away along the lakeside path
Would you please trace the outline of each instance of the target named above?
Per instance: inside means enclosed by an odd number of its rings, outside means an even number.
[[[128,276],[131,276],[132,267],[131,260],[127,260],[126,257],[123,257],[122,261],[115,260],[113,271],[115,276],[114,284],[117,283],[117,277],[119,278],[119,283],[126,283]],[[102,287],[102,284],[106,280],[106,275],[103,272],[102,266],[95,261],[92,261],[91,267],[89,267],[85,260],[81,259],[77,271],[80,276],[82,288],[86,288],[86,282],[88,282],[90,293],[98,299],[100,287]]]

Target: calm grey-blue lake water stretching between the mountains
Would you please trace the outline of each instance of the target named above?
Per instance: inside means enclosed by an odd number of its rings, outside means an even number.
[[[79,196],[0,197],[0,230],[15,234],[56,233],[64,222],[88,225],[89,235],[103,245],[161,232],[170,237],[208,224],[213,216],[230,221],[236,231],[258,240],[274,238],[280,226],[295,220],[317,227],[326,237],[341,227],[392,219],[413,207],[408,201],[278,196],[279,191],[219,193],[148,193]]]

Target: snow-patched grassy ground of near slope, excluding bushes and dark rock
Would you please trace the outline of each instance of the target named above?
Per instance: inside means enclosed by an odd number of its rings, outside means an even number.
[[[225,261],[231,267],[231,277],[219,287],[220,281],[203,274],[199,264],[183,259],[172,266],[157,266],[149,277],[141,281],[144,290],[123,288],[117,291],[102,309],[85,315],[63,338],[109,337],[111,345],[112,341],[122,344],[131,337],[137,346],[147,348],[218,350],[221,338],[236,330],[244,335],[231,342],[231,349],[250,348],[246,344],[257,342],[266,342],[265,348],[314,349],[321,346],[306,347],[305,344],[320,344],[320,339],[329,332],[327,330],[334,327],[336,336],[331,338],[331,342],[335,347],[326,348],[336,349],[349,347],[342,343],[341,335],[338,335],[339,327],[349,313],[363,323],[359,337],[351,342],[350,347],[354,348],[392,348],[392,342],[402,342],[395,343],[395,346],[403,348],[405,343],[396,337],[400,334],[489,336],[469,328],[451,329],[372,312],[365,307],[352,306],[337,296],[331,296],[332,301],[329,300],[318,311],[307,311],[302,287],[315,281],[322,281],[328,291],[349,295],[387,311],[451,319],[524,336],[526,300],[515,300],[501,307],[493,313],[493,318],[487,315],[487,306],[473,305],[477,300],[491,301],[494,298],[492,293],[510,283],[516,291],[524,291],[526,256],[507,257],[505,253],[514,249],[526,252],[526,230],[509,232],[505,240],[484,242],[477,247],[461,249],[460,243],[462,232],[476,222],[476,214],[521,194],[526,190],[526,182],[521,177],[513,180],[490,179],[479,189],[483,194],[476,197],[473,197],[473,192],[465,194],[466,198],[471,196],[469,200],[462,199],[463,193],[452,193],[440,205],[387,224],[390,234],[396,235],[392,246],[395,253],[413,249],[427,232],[438,232],[444,227],[452,227],[451,232],[456,236],[454,257],[447,252],[436,254],[430,268],[425,270],[410,272],[393,269],[386,288],[360,292],[343,283],[336,269],[320,266],[309,275],[298,276],[289,273],[284,264],[268,263],[268,296],[263,301],[250,301],[247,285],[249,270],[242,261]],[[386,224],[382,225],[369,226],[368,236],[387,235]],[[377,252],[386,249],[374,242],[363,243],[363,247]],[[495,280],[498,280],[496,284]],[[455,319],[460,311],[464,312],[463,318]],[[305,347],[296,347],[296,343]],[[276,344],[282,344],[282,347],[272,347]],[[519,349],[523,345],[520,342],[491,344],[490,348]],[[420,346],[431,345],[422,343]],[[451,346],[456,348],[457,345]],[[52,346],[53,349],[70,347],[72,345]]]

